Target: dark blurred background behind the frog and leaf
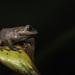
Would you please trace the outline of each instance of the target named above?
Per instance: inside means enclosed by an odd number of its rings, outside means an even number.
[[[0,29],[32,25],[35,65],[42,75],[75,74],[75,6],[72,0],[0,2]],[[0,64],[0,75],[17,75]]]

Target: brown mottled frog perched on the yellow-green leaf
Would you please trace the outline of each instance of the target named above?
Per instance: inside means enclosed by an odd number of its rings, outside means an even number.
[[[37,30],[30,25],[3,28],[0,31],[0,46],[9,46],[11,50],[18,51],[13,45],[17,42],[25,41],[37,34]]]

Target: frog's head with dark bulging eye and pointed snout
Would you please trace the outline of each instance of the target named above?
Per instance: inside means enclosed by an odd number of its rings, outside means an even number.
[[[38,32],[37,32],[37,30],[34,29],[32,26],[26,25],[26,26],[24,26],[24,27],[20,27],[20,28],[18,29],[18,33],[19,33],[19,35],[21,35],[21,36],[32,36],[32,35],[37,34]]]

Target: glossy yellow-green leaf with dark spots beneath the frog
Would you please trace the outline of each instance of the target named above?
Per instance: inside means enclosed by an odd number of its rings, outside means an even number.
[[[17,48],[22,48],[22,46],[17,46]],[[17,51],[8,51],[6,49],[9,49],[9,47],[4,46],[3,50],[0,50],[0,63],[21,75],[40,75],[26,51],[19,50],[21,52],[19,53]]]

